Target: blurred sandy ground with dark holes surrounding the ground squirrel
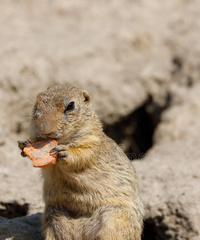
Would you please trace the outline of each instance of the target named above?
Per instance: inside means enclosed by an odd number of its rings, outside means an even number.
[[[143,240],[200,239],[199,16],[198,0],[1,0],[0,239],[41,239],[42,178],[17,140],[66,82],[136,167]]]

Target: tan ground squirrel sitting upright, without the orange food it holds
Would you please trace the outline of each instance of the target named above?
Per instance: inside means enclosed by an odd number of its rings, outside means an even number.
[[[56,85],[37,96],[32,138],[56,139],[43,169],[46,240],[140,240],[143,206],[135,170],[103,130],[90,96]]]

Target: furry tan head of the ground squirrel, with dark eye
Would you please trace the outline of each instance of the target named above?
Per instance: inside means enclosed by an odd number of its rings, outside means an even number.
[[[38,138],[70,140],[89,129],[93,116],[86,91],[71,85],[56,85],[38,94],[32,129]]]

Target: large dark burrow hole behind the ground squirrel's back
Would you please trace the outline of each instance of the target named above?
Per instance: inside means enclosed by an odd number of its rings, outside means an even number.
[[[171,95],[166,96],[165,104],[157,104],[151,96],[142,106],[120,121],[105,125],[105,133],[114,139],[125,151],[130,160],[141,159],[153,146],[153,137],[161,121],[163,111],[171,103]]]

